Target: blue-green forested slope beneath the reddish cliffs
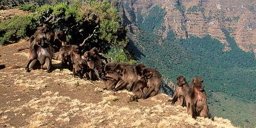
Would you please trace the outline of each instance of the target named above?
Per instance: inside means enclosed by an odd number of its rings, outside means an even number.
[[[225,45],[210,35],[202,38],[191,35],[187,39],[179,39],[170,29],[167,37],[163,38],[157,33],[163,29],[164,16],[165,10],[159,6],[153,7],[146,15],[137,12],[136,25],[141,33],[137,35],[138,42],[134,42],[133,51],[137,49],[135,57],[138,61],[158,69],[173,83],[180,75],[188,81],[194,76],[204,78],[209,99],[212,99],[213,93],[220,92],[233,98],[239,97],[243,102],[256,102],[256,87],[253,86],[256,84],[256,60],[253,52],[239,49],[225,28],[222,31],[231,48],[225,52]],[[215,102],[209,100],[210,104],[215,105]],[[236,124],[244,121],[238,120],[241,122]]]

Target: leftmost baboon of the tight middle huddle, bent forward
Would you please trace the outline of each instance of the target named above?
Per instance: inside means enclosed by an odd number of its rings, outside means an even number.
[[[114,62],[110,62],[105,65],[104,70],[106,76],[103,75],[101,78],[103,89],[114,90],[117,82],[120,81],[122,76],[116,72],[116,65],[117,63]]]

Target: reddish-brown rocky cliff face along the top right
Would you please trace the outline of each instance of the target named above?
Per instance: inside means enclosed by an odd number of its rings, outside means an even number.
[[[170,29],[173,29],[179,38],[187,38],[191,35],[203,37],[206,34],[218,39],[226,47],[223,51],[229,51],[222,28],[226,28],[235,38],[239,48],[244,51],[256,53],[255,26],[256,18],[254,6],[256,1],[209,1],[209,0],[184,0],[184,1],[157,1],[157,0],[133,0],[118,3],[119,12],[123,15],[124,22],[129,25],[130,31],[139,32],[136,27],[136,17],[139,11],[142,15],[160,5],[166,11],[161,31],[165,38]],[[135,39],[135,37],[133,37]]]

